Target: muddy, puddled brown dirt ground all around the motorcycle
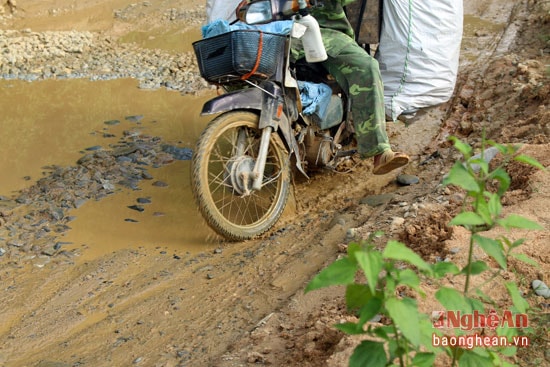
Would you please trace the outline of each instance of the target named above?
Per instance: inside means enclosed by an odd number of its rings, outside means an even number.
[[[0,46],[12,56],[0,65],[0,103],[13,121],[0,122],[0,366],[345,365],[355,341],[332,328],[350,317],[342,290],[303,288],[376,230],[380,243],[400,239],[430,261],[465,258],[465,233],[445,226],[460,193],[439,184],[459,158],[448,134],[479,147],[486,127],[550,164],[548,4],[465,1],[453,98],[388,123],[412,157],[402,173],[420,183],[400,186],[396,173],[375,177],[370,161],[354,160],[349,172],[298,179],[270,233],[227,243],[193,206],[185,157],[207,122],[198,107],[215,95],[190,53],[203,2],[0,5]],[[41,145],[48,136],[59,140]],[[505,210],[548,228],[548,172],[510,174]],[[550,282],[548,231],[518,235],[541,267],[514,264],[508,275],[544,308],[530,282]],[[430,312],[434,290],[423,289]],[[543,361],[545,349],[516,362]]]

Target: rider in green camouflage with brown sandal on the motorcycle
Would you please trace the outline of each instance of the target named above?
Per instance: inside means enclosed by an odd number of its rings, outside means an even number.
[[[324,0],[321,1],[323,6],[311,8],[310,13],[321,27],[328,54],[322,65],[351,100],[359,154],[362,158],[374,157],[373,173],[383,175],[408,164],[409,157],[393,152],[390,147],[378,61],[355,42],[353,28],[344,12],[344,6],[353,1]],[[238,4],[239,1],[233,2]],[[208,0],[208,3],[215,3],[215,0]],[[225,2],[225,6],[228,5]]]

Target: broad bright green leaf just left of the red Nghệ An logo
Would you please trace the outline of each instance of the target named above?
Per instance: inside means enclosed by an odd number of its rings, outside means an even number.
[[[420,319],[416,302],[411,298],[386,300],[386,310],[395,326],[415,347],[420,346]]]

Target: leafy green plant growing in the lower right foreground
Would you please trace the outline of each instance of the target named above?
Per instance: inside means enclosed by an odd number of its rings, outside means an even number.
[[[481,286],[473,287],[473,276],[488,273],[489,281],[494,281],[507,269],[508,259],[513,257],[530,265],[536,263],[527,256],[514,252],[523,239],[511,241],[507,237],[497,239],[485,237],[483,232],[495,226],[505,229],[541,229],[538,224],[511,214],[502,216],[501,200],[510,186],[511,179],[505,171],[511,160],[524,162],[544,169],[536,160],[525,155],[516,155],[517,147],[504,146],[483,139],[482,153],[472,156],[472,148],[459,139],[451,138],[454,146],[464,156],[465,162],[456,162],[444,179],[445,185],[458,186],[466,191],[462,211],[449,225],[462,226],[470,232],[467,263],[461,269],[453,262],[429,264],[418,254],[397,241],[389,241],[382,251],[377,250],[370,239],[351,243],[347,256],[323,269],[306,287],[306,292],[321,287],[344,285],[348,309],[355,312],[357,322],[335,325],[339,330],[351,335],[365,335],[365,340],[354,350],[350,366],[432,366],[439,353],[446,353],[451,364],[456,366],[509,366],[505,357],[515,355],[515,346],[495,348],[468,348],[462,345],[434,345],[435,337],[444,337],[442,330],[434,328],[433,320],[419,312],[416,297],[423,297],[421,281],[438,284],[436,299],[446,311],[459,315],[486,314],[497,308],[497,304],[482,291]],[[489,170],[483,151],[485,144],[494,146],[504,160]],[[496,182],[495,192],[488,189]],[[484,261],[474,260],[474,247],[478,245],[498,264],[491,269]],[[485,274],[487,275],[487,274]],[[443,285],[448,277],[463,277],[461,291]],[[361,279],[361,280],[359,280]],[[525,314],[527,302],[521,297],[516,283],[504,283],[512,306],[508,312]],[[413,296],[408,294],[412,293]],[[489,306],[489,307],[487,307]],[[376,315],[389,320],[387,325],[369,323]],[[497,336],[511,340],[518,329],[510,323],[494,328]],[[452,329],[454,336],[467,336],[470,330],[460,327]],[[465,340],[465,339],[464,339]]]

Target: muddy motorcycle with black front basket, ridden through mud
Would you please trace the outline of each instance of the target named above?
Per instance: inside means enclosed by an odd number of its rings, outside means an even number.
[[[306,13],[296,1],[256,0],[238,18],[258,25]],[[355,153],[343,148],[353,138],[345,93],[320,64],[292,59],[295,42],[294,34],[242,29],[193,43],[201,76],[225,93],[202,108],[201,115],[218,116],[198,139],[191,186],[208,225],[228,240],[251,239],[275,225],[296,171],[308,177]],[[304,113],[302,81],[330,87],[323,116]]]

